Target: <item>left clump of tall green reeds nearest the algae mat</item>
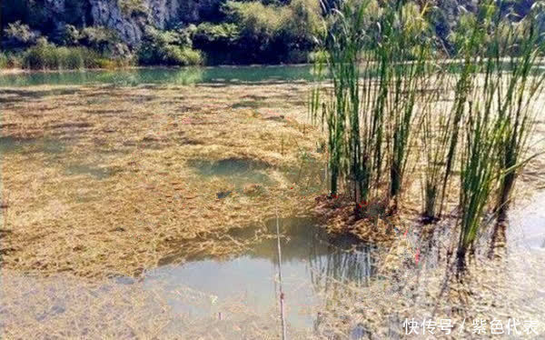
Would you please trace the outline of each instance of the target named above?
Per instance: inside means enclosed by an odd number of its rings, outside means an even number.
[[[423,12],[403,1],[382,9],[371,1],[347,1],[333,11],[330,30],[322,38],[332,77],[332,91],[322,104],[332,195],[342,178],[356,204],[367,201],[377,195],[387,167],[390,196],[401,192],[430,56],[422,39],[428,28]],[[320,93],[315,90],[310,98],[314,117]]]

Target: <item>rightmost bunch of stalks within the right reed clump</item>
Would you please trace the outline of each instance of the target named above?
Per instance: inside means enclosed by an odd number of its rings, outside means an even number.
[[[532,110],[531,104],[543,88],[545,75],[532,74],[543,51],[537,29],[538,11],[535,8],[517,25],[503,20],[500,23],[501,30],[495,35],[496,69],[498,76],[503,78],[497,109],[505,128],[497,151],[502,176],[494,206],[498,223],[492,233],[492,247],[498,237],[505,237],[503,222],[507,218],[510,195],[517,175],[526,163],[522,158],[528,154],[529,137],[535,127],[537,111]],[[502,55],[510,55],[507,63],[502,60]]]

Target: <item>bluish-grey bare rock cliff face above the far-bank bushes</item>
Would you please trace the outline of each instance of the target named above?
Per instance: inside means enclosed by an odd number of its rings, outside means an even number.
[[[146,25],[170,29],[176,25],[222,21],[220,7],[227,0],[0,0],[0,25],[22,21],[47,35],[64,24],[100,25],[113,29],[127,45],[137,45]],[[239,0],[242,1],[242,0]],[[257,0],[254,0],[257,1]],[[286,4],[289,0],[262,0]],[[316,0],[319,1],[319,0]],[[323,0],[334,5],[338,0]],[[535,0],[505,1],[502,10],[526,15]],[[432,21],[446,39],[465,11],[475,11],[479,0],[435,0]],[[515,17],[515,16],[513,16]],[[545,15],[543,15],[545,22]],[[545,29],[545,24],[543,24]]]

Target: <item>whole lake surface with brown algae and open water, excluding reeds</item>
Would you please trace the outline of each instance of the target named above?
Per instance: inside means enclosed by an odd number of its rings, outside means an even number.
[[[0,328],[264,338],[282,272],[290,338],[402,338],[436,308],[450,228],[396,225],[391,248],[326,232],[309,208],[322,147],[286,119],[307,114],[310,80],[310,65],[1,75]],[[511,216],[499,280],[516,313],[543,307],[543,199]]]

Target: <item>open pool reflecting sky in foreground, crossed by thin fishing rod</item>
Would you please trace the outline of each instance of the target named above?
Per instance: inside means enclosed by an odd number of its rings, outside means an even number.
[[[238,306],[256,315],[276,315],[279,307],[276,220],[262,228],[233,229],[230,236],[261,235],[242,254],[227,259],[197,258],[183,265],[163,265],[147,273],[144,286],[161,285],[163,298],[176,313],[236,318]],[[325,304],[322,295],[341,285],[366,285],[376,275],[377,248],[350,236],[326,235],[310,218],[279,220],[282,250],[282,291],[286,321],[312,328]],[[175,292],[173,295],[172,293]],[[331,302],[333,303],[333,302]]]

